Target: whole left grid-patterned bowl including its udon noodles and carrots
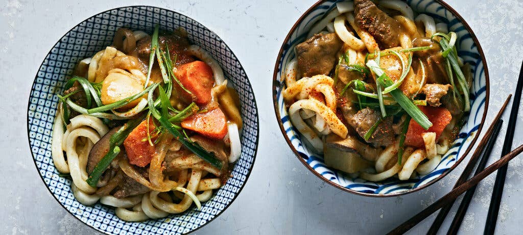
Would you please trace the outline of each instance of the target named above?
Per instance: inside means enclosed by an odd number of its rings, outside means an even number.
[[[238,196],[254,164],[254,93],[215,33],[130,6],[79,23],[40,66],[28,104],[52,196],[107,234],[185,234]]]

